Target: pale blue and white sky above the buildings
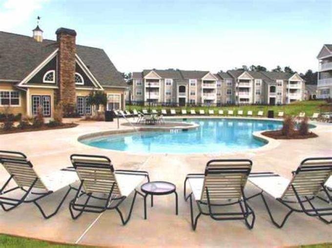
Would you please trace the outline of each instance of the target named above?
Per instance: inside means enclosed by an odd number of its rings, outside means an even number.
[[[242,65],[316,70],[332,43],[332,0],[0,0],[0,31],[75,29],[119,71],[217,72]]]

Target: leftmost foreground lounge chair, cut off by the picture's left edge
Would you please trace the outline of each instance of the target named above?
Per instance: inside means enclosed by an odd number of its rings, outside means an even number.
[[[13,210],[22,203],[33,203],[42,213],[45,219],[51,218],[60,210],[64,200],[71,190],[77,190],[71,186],[78,180],[75,172],[57,171],[49,175],[39,176],[34,170],[28,158],[19,152],[0,151],[0,164],[9,173],[9,179],[0,188],[0,205],[4,211]],[[11,181],[17,186],[6,189]],[[52,193],[68,187],[56,209],[46,214],[38,202]],[[21,198],[4,196],[8,192],[21,191]]]

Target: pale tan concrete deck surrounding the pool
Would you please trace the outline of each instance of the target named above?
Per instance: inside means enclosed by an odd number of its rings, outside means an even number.
[[[183,116],[181,116],[183,117]],[[122,119],[121,122],[124,122]],[[130,127],[120,126],[121,130]],[[253,172],[273,171],[287,178],[306,157],[332,155],[332,124],[317,124],[317,138],[305,140],[278,140],[270,148],[253,149],[241,153],[216,154],[128,154],[89,147],[79,143],[79,136],[117,130],[115,122],[81,121],[75,128],[40,132],[0,135],[0,149],[25,153],[40,174],[71,166],[72,153],[102,154],[111,158],[115,169],[148,171],[151,180],[166,180],[177,186],[179,215],[174,214],[174,196],[157,196],[154,207],[148,207],[144,220],[143,199],[138,197],[131,220],[121,225],[115,211],[103,214],[83,213],[72,220],[68,211],[71,193],[59,213],[44,220],[32,204],[23,204],[15,210],[0,210],[0,233],[45,239],[63,243],[99,246],[213,246],[213,247],[271,247],[295,246],[332,242],[332,227],[316,218],[294,213],[283,229],[275,228],[260,198],[249,201],[256,213],[252,230],[241,221],[217,222],[201,217],[196,231],[191,230],[188,202],[183,199],[183,182],[187,173],[202,173],[212,158],[249,158]],[[0,185],[8,174],[0,167]],[[248,183],[247,195],[258,192]],[[62,197],[65,190],[56,192],[41,201],[46,211]],[[132,195],[121,209],[128,212]],[[281,218],[286,208],[270,197],[272,211]]]

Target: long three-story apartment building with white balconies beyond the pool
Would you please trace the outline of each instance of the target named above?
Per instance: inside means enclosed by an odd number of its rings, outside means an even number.
[[[302,100],[304,80],[298,74],[229,70],[144,70],[133,73],[134,102],[186,104],[286,104]]]

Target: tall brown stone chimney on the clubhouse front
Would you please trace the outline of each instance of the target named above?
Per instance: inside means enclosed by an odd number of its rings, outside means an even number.
[[[59,44],[58,55],[58,102],[62,102],[64,116],[76,112],[75,93],[75,54],[76,32],[72,29],[59,28],[55,34]]]

